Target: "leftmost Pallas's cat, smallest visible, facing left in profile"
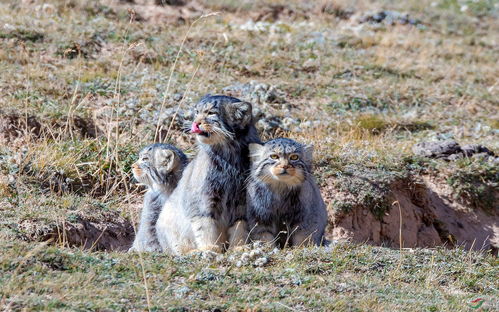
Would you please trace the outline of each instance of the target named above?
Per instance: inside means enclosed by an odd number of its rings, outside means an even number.
[[[147,186],[139,229],[129,251],[161,251],[156,235],[156,222],[165,200],[177,186],[187,157],[169,144],[151,144],[139,153],[132,165],[135,179]]]

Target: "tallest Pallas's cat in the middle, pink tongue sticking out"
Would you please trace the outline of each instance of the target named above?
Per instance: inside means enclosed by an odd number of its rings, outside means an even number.
[[[220,252],[247,238],[244,181],[248,144],[260,142],[250,103],[229,96],[205,96],[196,105],[191,133],[198,154],[186,167],[156,225],[163,248],[182,254]]]

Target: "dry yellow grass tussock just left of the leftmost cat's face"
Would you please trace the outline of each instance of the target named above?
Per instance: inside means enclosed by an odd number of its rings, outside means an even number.
[[[54,193],[102,196],[128,188],[137,145],[120,145],[106,154],[106,143],[93,139],[46,140],[19,164],[27,181]]]

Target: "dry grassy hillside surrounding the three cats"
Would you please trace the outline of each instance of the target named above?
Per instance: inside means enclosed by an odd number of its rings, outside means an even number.
[[[184,122],[206,93],[251,101],[263,138],[314,144],[332,219],[361,207],[382,220],[392,186],[423,177],[496,218],[497,162],[411,146],[498,151],[497,1],[131,2],[0,2],[3,309],[470,311],[477,298],[499,309],[497,258],[459,248],[109,251],[133,238],[137,151],[194,153]]]

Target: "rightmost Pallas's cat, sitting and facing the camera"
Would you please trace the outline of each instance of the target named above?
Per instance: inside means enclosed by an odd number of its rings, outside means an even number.
[[[326,206],[312,176],[312,147],[290,139],[250,144],[247,189],[251,238],[284,247],[320,245]],[[286,235],[282,235],[282,234]]]

